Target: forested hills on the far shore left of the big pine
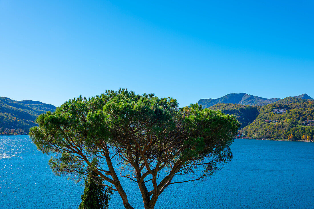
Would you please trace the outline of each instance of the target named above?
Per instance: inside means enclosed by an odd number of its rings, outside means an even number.
[[[15,101],[8,97],[0,97],[0,128],[27,131],[36,125],[34,121],[38,115],[54,110],[56,110],[56,106],[39,101]]]

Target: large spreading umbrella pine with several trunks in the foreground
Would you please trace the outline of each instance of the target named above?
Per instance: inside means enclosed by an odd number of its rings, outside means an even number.
[[[127,89],[74,98],[36,122],[30,137],[43,153],[55,154],[49,161],[55,174],[80,180],[96,158],[92,170],[127,209],[133,207],[121,178],[137,185],[144,208],[153,209],[168,186],[210,177],[229,162],[240,126],[219,110],[180,108],[176,99]]]

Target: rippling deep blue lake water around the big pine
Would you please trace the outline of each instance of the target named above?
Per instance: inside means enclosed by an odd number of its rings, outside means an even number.
[[[233,159],[202,182],[170,185],[156,209],[314,208],[314,143],[236,139]],[[75,209],[84,190],[48,166],[28,135],[0,136],[0,208]],[[123,182],[143,208],[137,185]],[[123,208],[117,192],[109,208]]]

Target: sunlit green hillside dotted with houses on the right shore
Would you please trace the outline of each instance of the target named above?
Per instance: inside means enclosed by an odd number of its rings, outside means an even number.
[[[293,101],[299,102],[291,103]],[[256,138],[313,139],[314,101],[288,97],[278,103],[260,107],[257,119],[244,127],[243,133]],[[273,112],[275,109],[286,109],[286,112],[276,114]]]

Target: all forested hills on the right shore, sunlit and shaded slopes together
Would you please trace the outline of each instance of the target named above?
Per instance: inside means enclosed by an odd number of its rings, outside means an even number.
[[[308,96],[303,94],[300,97]],[[310,141],[314,138],[312,99],[287,97],[259,107],[220,103],[209,108],[235,115],[245,137]]]

